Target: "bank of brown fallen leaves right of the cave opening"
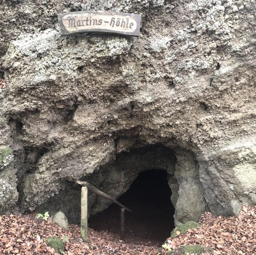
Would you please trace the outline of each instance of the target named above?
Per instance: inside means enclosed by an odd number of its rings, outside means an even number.
[[[229,218],[205,212],[200,224],[170,240],[169,247],[199,244],[214,250],[207,254],[256,255],[256,207],[244,206],[237,217]]]

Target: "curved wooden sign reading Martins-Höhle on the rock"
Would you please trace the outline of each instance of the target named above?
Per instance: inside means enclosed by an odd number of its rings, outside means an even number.
[[[68,12],[58,14],[62,35],[78,32],[108,32],[140,35],[141,15],[123,12]]]

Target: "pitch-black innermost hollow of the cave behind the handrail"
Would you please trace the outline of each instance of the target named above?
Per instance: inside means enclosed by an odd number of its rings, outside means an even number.
[[[174,207],[165,170],[140,172],[129,190],[117,200],[132,210],[125,211],[126,238],[163,242],[174,228]],[[111,204],[105,211],[90,217],[96,231],[119,233],[120,208]]]

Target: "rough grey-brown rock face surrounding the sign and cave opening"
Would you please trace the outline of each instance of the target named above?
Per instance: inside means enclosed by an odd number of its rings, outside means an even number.
[[[176,224],[255,205],[255,2],[60,2],[0,7],[0,210],[75,219],[75,180],[118,198],[156,168]],[[61,37],[57,13],[79,10],[140,13],[141,36]],[[91,213],[109,205],[89,195]]]

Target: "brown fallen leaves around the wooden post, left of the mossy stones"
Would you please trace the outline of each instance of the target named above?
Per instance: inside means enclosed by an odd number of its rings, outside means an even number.
[[[76,225],[70,226],[68,232],[58,227],[50,220],[36,220],[35,215],[9,215],[0,217],[0,254],[59,255],[47,246],[47,237],[59,237],[65,241],[65,254],[68,255],[156,255],[157,245],[133,245],[120,242],[119,235],[109,232],[95,232],[89,229],[89,245],[82,241],[80,229]]]

